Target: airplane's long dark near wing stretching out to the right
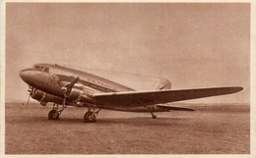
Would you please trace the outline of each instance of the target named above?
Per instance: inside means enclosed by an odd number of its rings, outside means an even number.
[[[216,95],[231,94],[242,90],[242,87],[214,87],[183,90],[126,91],[95,93],[97,102],[118,106],[146,106],[181,100],[197,99]]]

